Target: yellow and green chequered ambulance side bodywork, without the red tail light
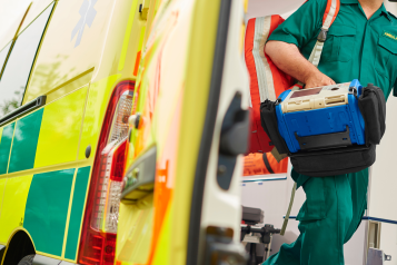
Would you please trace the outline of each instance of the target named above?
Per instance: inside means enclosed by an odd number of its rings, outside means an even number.
[[[1,264],[18,264],[33,253],[34,258],[79,263],[98,140],[112,125],[105,122],[109,101],[120,84],[133,91],[147,23],[140,4],[142,0],[36,0],[20,18],[19,30],[10,26],[14,35],[1,39],[0,52],[8,43],[11,49],[0,84],[8,79],[19,37],[50,13],[21,100],[27,106],[46,96],[46,104],[0,128]],[[21,7],[21,13],[26,10]],[[19,251],[28,242],[33,253]],[[100,264],[112,263],[100,255]]]

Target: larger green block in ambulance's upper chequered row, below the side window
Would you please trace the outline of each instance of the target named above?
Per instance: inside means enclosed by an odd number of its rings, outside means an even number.
[[[17,121],[8,173],[33,168],[43,111],[41,108]]]

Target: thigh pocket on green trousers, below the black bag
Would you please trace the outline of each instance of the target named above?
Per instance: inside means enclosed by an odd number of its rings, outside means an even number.
[[[310,177],[302,185],[306,202],[301,206],[297,220],[318,220],[326,217],[326,188],[324,178]]]

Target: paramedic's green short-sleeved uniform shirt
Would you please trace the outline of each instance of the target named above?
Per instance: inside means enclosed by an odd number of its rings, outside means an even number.
[[[309,58],[322,26],[327,0],[310,0],[282,22],[269,37],[296,45]],[[397,79],[397,18],[381,4],[368,20],[357,0],[340,0],[337,18],[329,28],[318,69],[336,84],[358,79],[363,86],[380,87],[386,99]],[[394,96],[397,90],[394,89]],[[308,179],[291,173],[298,187]],[[300,176],[300,177],[299,177]]]

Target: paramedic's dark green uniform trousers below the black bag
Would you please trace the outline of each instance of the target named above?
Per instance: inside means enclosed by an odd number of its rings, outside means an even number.
[[[343,265],[344,244],[358,228],[367,208],[368,169],[324,178],[309,177],[306,202],[297,219],[300,235],[282,244],[265,265]]]

